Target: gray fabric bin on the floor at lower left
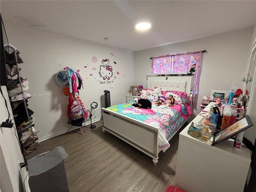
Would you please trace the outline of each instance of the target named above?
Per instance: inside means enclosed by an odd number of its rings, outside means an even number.
[[[64,159],[68,157],[59,146],[29,160],[28,183],[31,192],[69,192]]]

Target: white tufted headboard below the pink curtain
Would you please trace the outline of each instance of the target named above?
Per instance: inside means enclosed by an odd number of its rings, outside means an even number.
[[[154,89],[154,86],[161,87],[162,91],[182,91],[190,95],[193,89],[194,76],[186,73],[178,74],[146,74],[147,89]]]

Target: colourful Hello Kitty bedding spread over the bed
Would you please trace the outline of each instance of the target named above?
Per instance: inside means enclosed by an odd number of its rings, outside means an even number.
[[[107,109],[158,127],[160,130],[158,147],[163,152],[170,147],[168,138],[170,138],[193,113],[188,104],[174,104],[173,106],[152,104],[151,109],[143,109],[134,108],[132,106],[133,103],[133,101],[130,101],[110,106]]]

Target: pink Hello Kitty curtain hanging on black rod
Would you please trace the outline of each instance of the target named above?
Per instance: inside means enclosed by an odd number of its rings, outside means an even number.
[[[197,51],[177,53],[174,55],[162,55],[152,58],[151,73],[189,73],[190,67],[196,64],[192,91],[193,103],[200,79],[202,55],[202,51]]]

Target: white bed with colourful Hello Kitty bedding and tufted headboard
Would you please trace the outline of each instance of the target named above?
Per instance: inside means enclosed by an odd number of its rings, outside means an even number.
[[[188,74],[146,74],[145,90],[161,87],[162,95],[178,95],[182,102],[174,106],[152,104],[151,109],[142,109],[134,108],[130,101],[102,108],[103,132],[110,132],[144,152],[156,165],[159,152],[170,147],[169,141],[192,114],[188,100],[193,77]]]

